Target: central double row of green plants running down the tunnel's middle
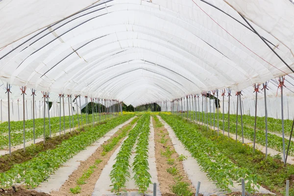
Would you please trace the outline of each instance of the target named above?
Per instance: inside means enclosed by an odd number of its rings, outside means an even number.
[[[121,191],[125,191],[125,183],[126,181],[130,178],[130,173],[129,173],[129,160],[131,157],[131,151],[136,143],[136,140],[138,136],[140,135],[137,147],[136,147],[136,161],[134,160],[134,170],[135,175],[137,176],[135,179],[136,185],[141,189],[145,190],[145,186],[150,183],[150,174],[147,174],[148,170],[148,162],[145,161],[146,159],[146,154],[148,151],[148,148],[143,147],[144,145],[147,144],[148,147],[148,142],[146,143],[146,137],[147,134],[149,133],[149,122],[150,122],[150,115],[145,114],[141,117],[141,119],[138,121],[136,126],[129,132],[127,139],[123,142],[122,147],[119,151],[119,153],[116,156],[116,162],[112,166],[112,171],[110,172],[109,176],[111,179],[111,183],[113,186],[112,192],[115,192],[119,194]],[[143,163],[144,162],[144,167],[139,167],[137,163]],[[142,175],[139,174],[138,172],[141,171],[143,172]],[[146,177],[146,179],[143,179],[142,177]],[[142,182],[144,180],[144,182]],[[140,184],[138,184],[140,183]],[[144,183],[142,186],[141,183]]]

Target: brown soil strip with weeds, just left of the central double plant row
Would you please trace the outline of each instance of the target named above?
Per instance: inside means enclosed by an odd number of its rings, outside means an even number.
[[[122,129],[125,126],[128,126],[129,124],[130,123],[125,124],[110,139],[118,136],[122,132]],[[110,139],[108,139],[106,142],[104,142],[104,144],[108,144],[110,142]],[[124,138],[122,138],[120,140],[120,142],[104,156],[101,155],[101,153],[103,151],[103,147],[102,146],[98,147],[97,150],[86,161],[81,162],[78,169],[75,170],[69,176],[69,179],[61,186],[59,191],[52,192],[50,194],[50,196],[91,196],[94,191],[95,184],[96,184],[103,168],[105,167],[105,165],[109,161],[109,159],[112,156],[112,154],[114,153],[114,151],[121,145],[121,143],[123,142],[123,139]],[[79,194],[72,194],[70,192],[70,188],[74,188],[75,186],[77,186],[77,183],[76,183],[77,179],[80,178],[83,175],[83,172],[87,171],[90,168],[90,166],[94,165],[95,161],[98,159],[102,160],[102,162],[96,166],[97,168],[94,170],[94,172],[91,174],[91,176],[86,180],[87,183],[82,184],[82,185],[78,185],[81,187],[80,193]]]

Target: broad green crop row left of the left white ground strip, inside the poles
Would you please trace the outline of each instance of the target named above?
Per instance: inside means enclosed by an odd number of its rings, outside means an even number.
[[[7,172],[0,173],[1,188],[12,186],[13,183],[22,181],[30,188],[38,186],[42,181],[47,180],[49,175],[56,171],[62,163],[65,163],[80,150],[85,149],[109,130],[132,116],[122,115],[109,120],[105,124],[95,127],[88,126],[85,131],[63,141],[58,147],[41,152],[30,161],[14,165]]]

